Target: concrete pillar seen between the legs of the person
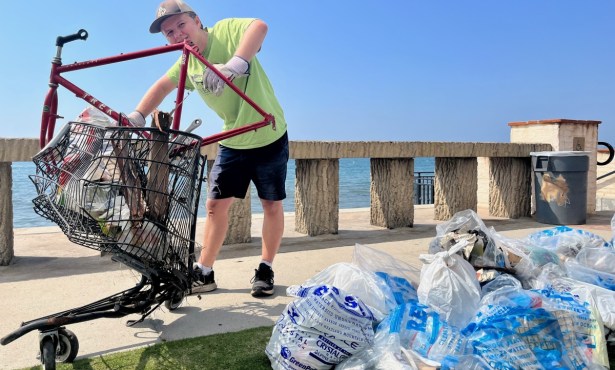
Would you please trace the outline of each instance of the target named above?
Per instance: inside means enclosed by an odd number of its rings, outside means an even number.
[[[207,178],[209,179],[209,172],[213,166],[214,161],[207,161]],[[207,184],[209,185],[209,180]],[[207,190],[207,188],[206,188]],[[205,192],[207,194],[207,191]],[[239,244],[250,243],[252,241],[251,228],[252,228],[252,207],[250,201],[250,188],[244,199],[235,199],[233,205],[229,210],[229,227],[226,232],[226,238],[223,244]],[[203,201],[207,201],[207,197]],[[207,220],[205,221],[207,223]]]

